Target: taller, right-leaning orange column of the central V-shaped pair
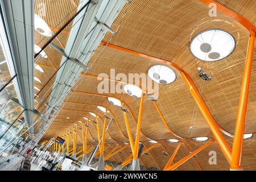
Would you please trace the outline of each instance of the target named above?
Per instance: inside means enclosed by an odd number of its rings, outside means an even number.
[[[139,136],[141,134],[141,120],[142,120],[142,111],[143,111],[143,101],[144,101],[144,93],[141,94],[141,104],[139,105],[139,117],[137,123],[137,131],[136,131],[136,138],[134,144],[134,154],[133,158],[138,159],[138,149],[139,149]]]

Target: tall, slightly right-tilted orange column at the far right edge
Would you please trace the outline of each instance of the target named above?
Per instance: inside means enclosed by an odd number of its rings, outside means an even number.
[[[248,101],[248,92],[250,86],[250,74],[251,74],[251,64],[253,61],[253,48],[254,48],[255,32],[250,32],[250,38],[247,48],[247,55],[245,61],[245,70],[243,72],[243,81],[240,94],[240,101],[237,113],[236,129],[234,132],[234,140],[232,147],[232,169],[241,169],[241,154],[242,154],[242,143],[243,143],[243,133],[245,130],[245,118],[246,109]]]

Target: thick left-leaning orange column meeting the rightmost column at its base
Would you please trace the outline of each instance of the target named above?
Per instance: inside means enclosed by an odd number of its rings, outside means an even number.
[[[226,159],[228,160],[229,164],[231,164],[231,148],[229,147],[228,143],[226,143],[224,137],[222,136],[220,132],[220,127],[217,125],[216,121],[214,121],[212,114],[210,114],[210,111],[205,105],[205,102],[203,98],[201,98],[200,93],[198,92],[195,84],[193,84],[193,81],[191,78],[187,75],[187,73],[184,73],[183,71],[180,71],[180,75],[183,78],[185,84],[187,85],[187,88],[192,94],[192,97],[196,101],[197,106],[199,107],[201,113],[204,115],[205,121],[207,121],[210,130],[212,131],[214,138],[216,139],[218,146],[220,146],[222,152],[224,153]]]

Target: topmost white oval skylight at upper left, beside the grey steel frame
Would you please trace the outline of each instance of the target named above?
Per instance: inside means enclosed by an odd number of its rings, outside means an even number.
[[[37,14],[35,14],[35,30],[44,36],[52,36],[51,28],[47,23]]]

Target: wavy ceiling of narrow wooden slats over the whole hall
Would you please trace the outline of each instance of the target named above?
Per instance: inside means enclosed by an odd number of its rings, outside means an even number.
[[[39,2],[36,1],[36,5]],[[47,2],[47,15],[44,19],[51,27],[60,28],[58,21],[61,17],[68,15],[69,11],[75,12],[76,5],[79,1],[65,0],[63,3]],[[244,18],[256,25],[255,7],[256,2],[251,1],[216,1],[221,5],[227,7],[234,12],[241,14]],[[123,8],[125,9],[126,6]],[[222,129],[229,133],[234,133],[234,126],[236,122],[236,115],[238,109],[238,101],[240,96],[242,72],[245,63],[247,40],[249,32],[240,23],[229,18],[226,15],[217,13],[216,17],[208,16],[209,8],[199,0],[193,1],[154,1],[154,0],[133,0],[127,9],[125,18],[119,27],[117,35],[110,42],[115,46],[123,47],[164,59],[175,63],[181,69],[188,73],[188,75],[195,82],[197,88],[201,91],[201,95],[209,107],[213,118]],[[121,17],[125,11],[122,11],[112,28],[115,30]],[[53,16],[54,15],[54,16]],[[55,17],[56,18],[52,18]],[[70,28],[70,27],[69,27]],[[67,31],[69,30],[67,28]],[[205,63],[197,60],[192,56],[189,51],[189,43],[191,39],[203,30],[209,28],[220,28],[232,34],[236,39],[236,49],[226,59],[215,61],[212,63]],[[102,42],[110,41],[110,34],[107,34]],[[36,42],[42,40],[37,33],[35,35]],[[61,34],[59,40],[54,40],[57,45],[63,45],[67,42],[68,34]],[[42,41],[43,42],[43,41]],[[43,44],[43,43],[42,43]],[[93,63],[97,55],[101,52],[104,46],[100,45],[94,53],[89,65]],[[254,47],[254,52],[256,46]],[[42,84],[38,85],[42,88],[48,81],[48,78],[53,75],[57,68],[59,68],[61,55],[48,47],[46,49],[48,59],[39,59],[39,63],[44,65],[42,67],[46,73],[35,72],[35,75],[42,80]],[[255,53],[254,53],[255,55]],[[254,56],[253,67],[251,72],[249,102],[246,115],[245,133],[255,133],[256,125],[256,110],[255,110],[255,84],[256,84],[256,57]],[[52,63],[51,63],[52,62]],[[128,52],[117,50],[114,48],[106,48],[100,55],[96,64],[89,72],[91,75],[98,75],[100,73],[110,73],[110,69],[115,69],[117,73],[147,73],[148,67],[151,65],[159,64],[154,60],[149,60],[138,55],[133,55]],[[202,67],[210,76],[213,77],[212,81],[203,81],[199,78],[196,71],[197,67]],[[175,68],[173,68],[175,70]],[[160,85],[159,98],[157,104],[166,119],[168,126],[176,135],[183,137],[181,139],[187,144],[191,151],[196,150],[205,142],[195,142],[191,139],[193,137],[212,137],[207,123],[204,121],[203,116],[197,109],[191,94],[188,92],[179,72],[176,72],[176,80],[170,85]],[[54,81],[54,77],[52,82]],[[93,119],[88,112],[94,112],[100,115],[100,130],[102,131],[102,120],[104,113],[100,112],[96,106],[104,106],[110,110],[110,116],[114,118],[114,122],[109,128],[108,135],[106,136],[106,143],[110,144],[110,148],[114,148],[113,143],[123,143],[128,141],[125,122],[123,120],[122,112],[118,107],[109,104],[107,96],[116,97],[125,102],[130,109],[127,114],[128,121],[131,126],[131,131],[135,134],[136,123],[135,119],[138,118],[139,99],[134,99],[126,94],[100,94],[97,92],[97,85],[99,81],[97,78],[84,76],[79,82],[76,92],[69,93],[65,101],[63,110],[57,115],[55,121],[44,134],[42,140],[56,137],[62,131],[67,131],[68,127],[74,126],[73,123],[77,121],[84,121],[82,117]],[[39,83],[36,83],[39,84]],[[50,84],[49,84],[50,85]],[[39,97],[46,94],[47,88],[42,90]],[[88,94],[88,93],[93,93]],[[42,111],[44,105],[37,107]],[[69,117],[70,119],[67,119]],[[94,123],[89,123],[90,134],[88,137],[89,144],[97,144],[97,132]],[[192,130],[189,127],[193,127]],[[152,101],[147,97],[144,98],[144,110],[142,118],[142,135],[141,140],[145,147],[151,144],[147,140],[154,139],[159,141],[159,146],[150,150],[149,155],[143,155],[141,164],[150,169],[156,167],[163,169],[168,161],[168,156],[163,155],[166,151],[169,155],[175,150],[176,143],[167,142],[166,139],[176,138],[170,133],[164,123],[161,121],[158,113],[156,112]],[[79,130],[78,145],[81,146],[81,130]],[[225,137],[230,146],[232,146],[232,138]],[[106,150],[108,154],[109,150]],[[209,151],[217,152],[217,165],[209,165],[208,159]],[[127,147],[122,153],[115,155],[109,160],[112,162],[123,162],[130,155],[130,148]],[[188,151],[184,146],[180,148],[175,161],[188,155]],[[256,146],[255,135],[253,138],[244,140],[242,167],[244,169],[255,170]],[[210,145],[206,150],[200,152],[196,156],[197,161],[205,170],[228,170],[229,165],[220,148],[216,143]],[[189,160],[179,167],[179,170],[197,170],[199,169],[193,159]]]

